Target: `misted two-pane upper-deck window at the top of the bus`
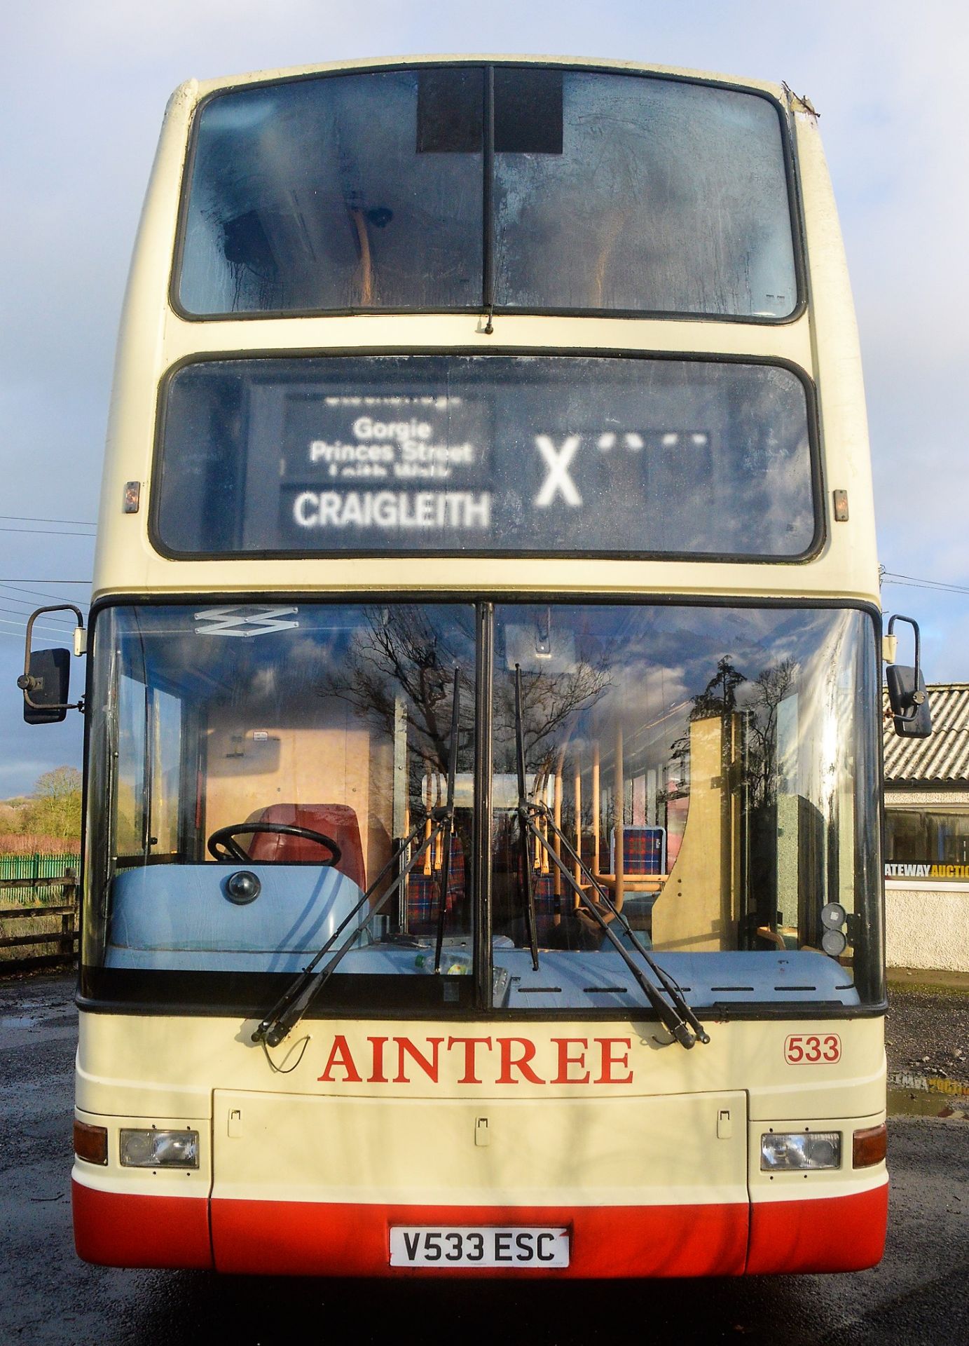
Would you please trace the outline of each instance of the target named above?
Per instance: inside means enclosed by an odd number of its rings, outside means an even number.
[[[187,180],[192,316],[797,306],[781,118],[736,89],[541,66],[254,85],[202,106]]]

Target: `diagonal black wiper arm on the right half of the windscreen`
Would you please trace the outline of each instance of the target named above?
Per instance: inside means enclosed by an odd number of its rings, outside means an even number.
[[[556,821],[552,816],[552,810],[548,808],[548,805],[533,804],[529,806],[528,814],[529,814],[528,816],[529,832],[545,848],[549,860],[552,860],[552,863],[556,865],[556,868],[563,875],[565,882],[569,884],[572,891],[577,895],[579,900],[583,903],[585,910],[594,918],[596,925],[600,926],[603,934],[616,949],[626,966],[630,969],[633,976],[637,979],[638,984],[642,987],[649,1003],[659,1015],[659,1019],[662,1020],[663,1026],[669,1030],[669,1032],[676,1038],[676,1040],[682,1047],[686,1049],[693,1047],[696,1046],[697,1042],[708,1043],[709,1034],[690,1010],[680,987],[677,987],[673,979],[650,956],[649,950],[643,945],[642,940],[637,935],[635,930],[629,923],[627,918],[615,906],[612,899],[608,896],[606,888],[596,880],[595,875],[585,865],[585,861],[572,847],[572,844],[569,843],[568,837],[561,830],[561,828],[556,825]],[[559,839],[559,843],[561,848],[565,851],[567,856],[572,860],[575,865],[577,865],[579,872],[587,879],[589,886],[599,894],[600,898],[599,905],[589,896],[588,892],[585,892],[585,890],[576,880],[575,875],[571,872],[568,865],[565,865],[561,857],[556,853],[554,848],[549,845],[548,839],[544,836],[541,829],[536,826],[536,818],[542,818],[545,825]],[[603,913],[599,910],[599,906],[606,907],[606,913],[607,915],[611,917],[611,921],[608,921],[606,915],[603,915]],[[614,931],[612,922],[618,922],[619,929],[630,940],[633,948],[637,950],[639,957],[654,973],[657,981],[659,983],[659,987],[657,987],[653,981],[650,981],[650,979],[645,975],[643,969],[633,958],[626,945]],[[669,997],[669,1003],[663,1000],[661,995],[661,988]]]

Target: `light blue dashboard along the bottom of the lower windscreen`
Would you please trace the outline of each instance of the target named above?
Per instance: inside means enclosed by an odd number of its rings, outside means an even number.
[[[227,894],[236,865],[145,865],[112,884],[106,965],[176,972],[300,972],[359,903],[359,887],[339,870],[307,864],[253,864],[258,896],[238,905]],[[363,907],[347,926],[362,925]],[[343,937],[342,937],[343,938]],[[649,1008],[641,984],[611,946],[541,949],[538,970],[528,949],[495,938],[494,1007],[510,1011]],[[639,962],[639,956],[631,950]],[[690,1005],[824,1003],[856,1005],[851,972],[810,949],[754,953],[658,953],[657,964],[682,988]],[[443,972],[470,975],[467,938],[444,942]],[[431,941],[359,942],[339,965],[342,975],[433,975]],[[650,976],[643,964],[643,972]]]

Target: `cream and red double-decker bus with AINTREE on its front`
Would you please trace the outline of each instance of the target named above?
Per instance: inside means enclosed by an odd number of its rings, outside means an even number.
[[[90,627],[82,1257],[879,1260],[882,630],[810,105],[183,85]]]

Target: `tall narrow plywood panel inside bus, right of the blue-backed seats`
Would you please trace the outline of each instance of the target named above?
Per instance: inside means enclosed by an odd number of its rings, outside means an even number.
[[[689,727],[689,812],[680,852],[653,906],[653,948],[735,948],[731,921],[731,817],[720,715]]]

